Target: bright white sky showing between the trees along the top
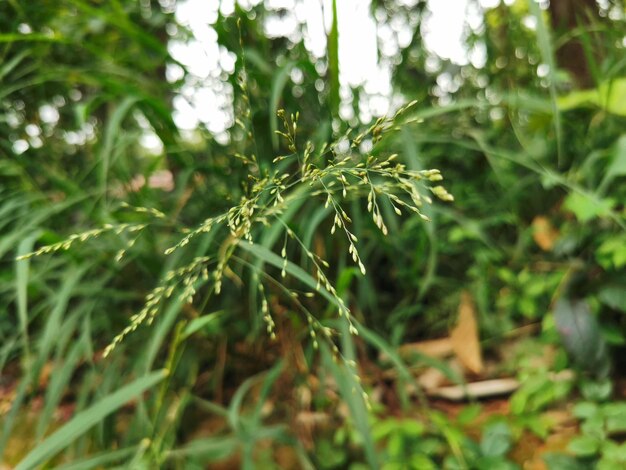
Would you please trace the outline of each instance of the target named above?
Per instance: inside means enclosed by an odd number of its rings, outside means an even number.
[[[261,0],[241,1],[242,6],[252,6]],[[506,0],[510,3],[511,0]],[[405,2],[410,3],[410,2]],[[499,0],[481,0],[483,8],[497,6]],[[304,44],[313,57],[326,55],[326,34],[332,22],[332,0],[266,0],[268,9],[282,9],[283,15],[264,25],[270,36],[296,36],[299,24],[305,25]],[[378,39],[385,47],[386,30],[398,32],[400,38],[410,40],[408,25],[378,25],[372,17],[371,0],[337,1],[339,26],[339,69],[342,96],[350,99],[350,88],[363,86],[370,98],[362,103],[369,111],[361,109],[361,119],[371,119],[370,112],[381,115],[389,111],[391,102],[391,66],[381,64],[378,55]],[[468,50],[465,44],[467,28],[482,28],[482,11],[470,0],[429,0],[429,14],[422,26],[425,47],[431,53],[459,65],[471,63],[482,67],[486,52],[480,47]],[[172,56],[184,64],[191,79],[183,85],[180,96],[175,98],[174,119],[183,130],[193,130],[203,123],[220,140],[227,138],[232,125],[232,87],[225,83],[224,74],[232,73],[236,56],[217,44],[217,34],[212,25],[218,12],[228,15],[234,11],[234,0],[179,1],[176,7],[177,21],[188,27],[194,39],[189,42],[171,41]],[[403,35],[402,29],[407,29]],[[388,32],[388,31],[387,31]],[[406,42],[403,40],[402,42]],[[406,47],[407,44],[401,44]],[[397,46],[394,46],[397,47]],[[168,70],[170,80],[180,78],[181,71],[172,66]],[[346,113],[350,114],[350,113]]]

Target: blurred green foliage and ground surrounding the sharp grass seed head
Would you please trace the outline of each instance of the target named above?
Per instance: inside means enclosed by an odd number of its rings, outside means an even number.
[[[333,2],[322,57],[307,48],[306,24],[271,29],[294,15],[288,5],[214,8],[219,66],[203,77],[175,58],[194,40],[179,3],[0,2],[3,464],[521,468],[534,454],[520,443],[535,439],[546,453],[532,468],[624,468],[624,5],[475,4],[482,22],[466,40],[484,63],[459,65],[425,46],[427,2],[373,1],[387,104],[418,102],[382,151],[410,169],[440,169],[455,201],[425,207],[430,222],[383,207],[388,236],[355,203],[366,276],[329,235],[323,203],[295,208],[294,226],[333,261],[329,276],[361,324],[340,339],[349,361],[312,348],[278,288],[267,293],[278,324],[270,340],[255,289],[236,281],[219,297],[170,302],[103,359],[159,279],[207,251],[208,235],[163,255],[246,194],[245,158],[263,171],[288,151],[274,132],[279,109],[300,113],[298,133],[316,148],[380,114],[366,87],[341,83]],[[219,101],[222,124],[181,126],[202,93]],[[123,223],[148,226],[15,261]],[[264,241],[280,251],[270,229]],[[491,364],[465,378],[522,382],[500,414],[476,402],[442,411],[415,386],[416,371],[452,382],[463,372],[398,353],[446,336],[463,292]],[[323,302],[311,305],[335,325]],[[355,371],[368,402],[352,392]],[[575,375],[556,380],[563,371]],[[554,410],[581,426],[559,434]],[[567,438],[560,447],[555,434]]]

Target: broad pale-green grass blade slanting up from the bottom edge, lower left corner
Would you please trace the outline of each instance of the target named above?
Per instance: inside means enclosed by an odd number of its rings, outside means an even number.
[[[55,454],[101,422],[106,416],[159,383],[167,377],[167,374],[167,370],[160,370],[140,377],[81,411],[30,451],[15,467],[15,470],[39,467],[40,464],[54,457]]]

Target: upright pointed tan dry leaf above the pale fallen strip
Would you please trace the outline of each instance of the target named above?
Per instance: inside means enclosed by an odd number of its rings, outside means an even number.
[[[483,359],[478,338],[478,325],[474,301],[467,291],[461,293],[459,304],[459,321],[450,332],[452,349],[459,361],[474,374],[483,370]]]

